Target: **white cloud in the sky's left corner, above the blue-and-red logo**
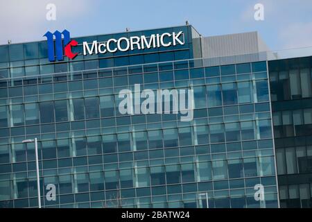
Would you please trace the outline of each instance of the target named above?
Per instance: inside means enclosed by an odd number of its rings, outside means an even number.
[[[56,6],[56,21],[46,20],[48,3]],[[6,44],[8,39],[12,43],[40,40],[47,30],[65,28],[75,17],[87,16],[89,5],[78,0],[6,1],[0,7],[0,44]]]

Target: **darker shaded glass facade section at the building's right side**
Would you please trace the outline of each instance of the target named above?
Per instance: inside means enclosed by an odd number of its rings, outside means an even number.
[[[312,57],[268,63],[281,207],[312,207]]]

